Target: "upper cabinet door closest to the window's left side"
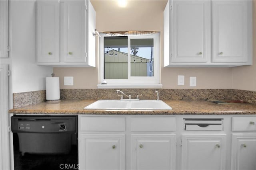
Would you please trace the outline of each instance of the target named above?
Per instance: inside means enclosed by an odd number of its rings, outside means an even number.
[[[70,0],[63,2],[64,8],[64,62],[85,62],[85,1]]]

